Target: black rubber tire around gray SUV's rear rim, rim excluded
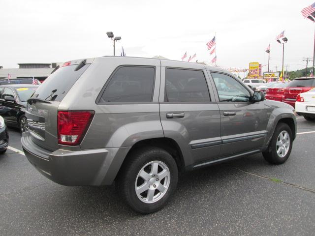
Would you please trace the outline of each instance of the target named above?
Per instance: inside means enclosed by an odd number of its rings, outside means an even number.
[[[124,198],[126,203],[133,210],[142,214],[152,213],[164,207],[169,198],[173,195],[178,181],[178,169],[174,158],[164,149],[156,147],[136,149],[132,151],[132,153],[130,153],[126,158],[127,160],[124,162],[124,165],[120,170],[117,179],[116,187],[117,190],[119,191],[119,194],[122,194],[122,197]],[[161,162],[167,166],[170,174],[169,177],[170,180],[168,181],[168,187],[165,190],[165,192],[160,193],[160,199],[153,203],[145,203],[143,201],[148,200],[146,199],[148,198],[148,195],[147,197],[143,197],[143,200],[140,200],[140,198],[137,196],[135,189],[136,186],[138,185],[138,182],[136,181],[139,181],[140,177],[138,177],[138,174],[140,173],[141,170],[143,170],[143,167],[153,161]],[[151,164],[148,167],[151,167]],[[152,171],[150,170],[149,172]],[[151,178],[149,177],[148,180],[151,179],[149,181],[147,180],[145,181],[142,178],[140,178],[140,180],[144,181],[143,183],[140,183],[140,185],[143,184],[145,186],[153,187],[154,184],[150,181],[154,181],[156,177],[152,176]],[[160,183],[162,183],[163,181],[162,184],[164,184],[165,181],[167,181],[166,179],[167,179],[166,177],[161,178]],[[146,185],[145,182],[148,183],[148,185]],[[154,185],[154,187],[156,186],[157,185]],[[154,196],[156,196],[156,191],[158,192],[157,194],[159,194],[158,187],[156,188],[156,190],[154,190]],[[149,194],[149,190],[144,191],[143,194]]]

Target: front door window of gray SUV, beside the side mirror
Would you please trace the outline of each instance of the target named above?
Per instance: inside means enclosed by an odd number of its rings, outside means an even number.
[[[248,102],[251,93],[231,76],[211,73],[221,102]]]

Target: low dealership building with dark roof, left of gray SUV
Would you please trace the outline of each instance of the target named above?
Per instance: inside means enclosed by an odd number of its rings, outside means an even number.
[[[11,79],[34,77],[39,81],[44,81],[61,63],[19,63],[19,68],[2,68],[0,66],[0,79],[7,79],[8,74]]]

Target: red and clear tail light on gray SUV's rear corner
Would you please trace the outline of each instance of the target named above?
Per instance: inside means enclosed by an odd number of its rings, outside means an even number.
[[[94,111],[58,111],[58,143],[79,145],[93,116]]]

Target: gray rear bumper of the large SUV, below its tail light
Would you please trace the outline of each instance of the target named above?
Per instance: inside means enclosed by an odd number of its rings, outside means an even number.
[[[66,186],[112,184],[130,149],[49,151],[32,142],[29,132],[23,133],[21,143],[26,157],[42,175]]]

